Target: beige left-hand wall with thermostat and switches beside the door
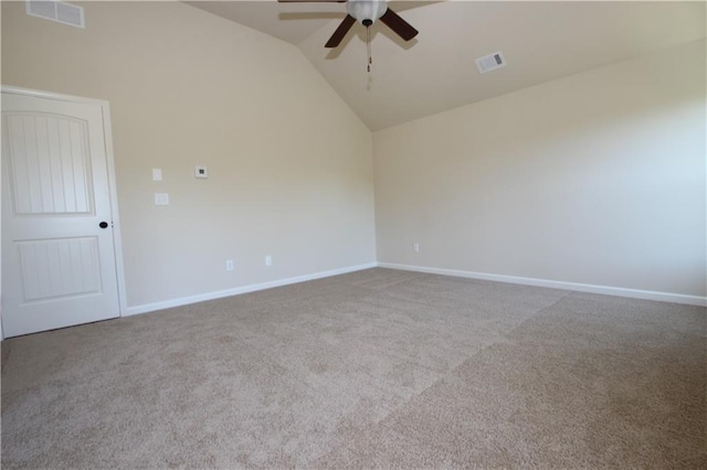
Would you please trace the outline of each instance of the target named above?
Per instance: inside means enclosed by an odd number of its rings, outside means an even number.
[[[82,4],[85,31],[2,2],[2,84],[110,103],[128,306],[374,261],[371,133],[296,47],[183,3]]]

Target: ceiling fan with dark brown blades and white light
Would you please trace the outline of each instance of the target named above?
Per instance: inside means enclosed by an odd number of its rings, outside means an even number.
[[[346,34],[349,32],[354,23],[359,21],[366,26],[367,35],[369,28],[376,21],[380,20],[390,28],[395,34],[404,41],[410,41],[418,35],[418,30],[412,28],[405,20],[400,18],[398,13],[388,8],[388,0],[277,0],[281,3],[299,3],[299,2],[346,2],[347,15],[336,29],[325,47],[338,46]],[[370,38],[370,35],[368,35]]]

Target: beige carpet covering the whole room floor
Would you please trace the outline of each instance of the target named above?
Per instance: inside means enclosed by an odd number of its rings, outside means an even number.
[[[707,311],[370,269],[2,342],[3,468],[707,468]]]

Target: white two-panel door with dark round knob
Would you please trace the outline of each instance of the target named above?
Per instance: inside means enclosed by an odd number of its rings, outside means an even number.
[[[2,93],[2,330],[119,314],[99,104]]]

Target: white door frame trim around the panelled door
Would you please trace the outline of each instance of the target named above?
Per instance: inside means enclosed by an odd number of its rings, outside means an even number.
[[[106,143],[106,160],[108,168],[108,194],[110,197],[110,213],[113,221],[113,242],[114,242],[114,256],[115,256],[115,270],[118,281],[118,308],[120,317],[124,317],[127,311],[127,295],[125,291],[125,267],[123,264],[123,239],[120,238],[120,215],[118,212],[118,192],[116,188],[115,178],[115,161],[113,156],[113,133],[110,126],[110,104],[104,99],[84,98],[81,96],[62,95],[59,93],[42,92],[39,89],[19,88],[15,86],[0,85],[0,92],[9,93],[12,95],[32,96],[35,98],[54,99],[57,102],[81,103],[88,105],[96,105],[101,107],[101,114],[103,116],[103,133],[105,136]],[[0,197],[2,192],[0,191]],[[1,236],[1,235],[0,235]],[[0,259],[2,253],[0,253]],[[1,281],[1,279],[0,279]],[[0,285],[1,286],[1,285]],[[2,289],[0,287],[0,295]],[[2,320],[2,311],[0,307],[0,324]],[[0,330],[0,339],[4,339],[4,334]]]

